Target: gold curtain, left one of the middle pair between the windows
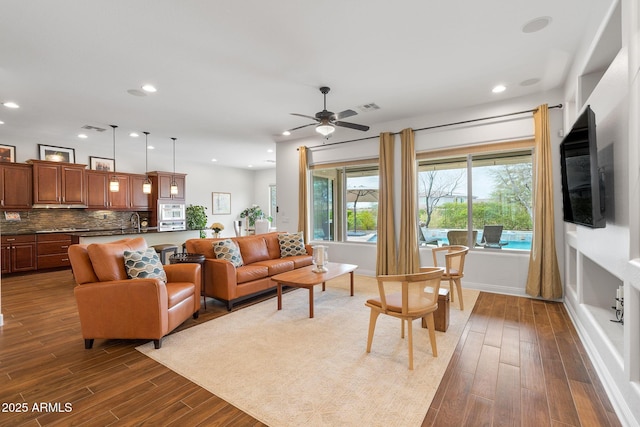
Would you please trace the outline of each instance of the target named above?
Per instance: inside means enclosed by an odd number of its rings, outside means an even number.
[[[380,134],[380,191],[376,275],[396,274],[396,232],[393,215],[393,133]]]

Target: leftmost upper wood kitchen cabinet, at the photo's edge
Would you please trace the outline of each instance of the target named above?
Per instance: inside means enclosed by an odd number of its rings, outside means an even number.
[[[32,204],[32,166],[0,164],[0,209],[31,209]]]

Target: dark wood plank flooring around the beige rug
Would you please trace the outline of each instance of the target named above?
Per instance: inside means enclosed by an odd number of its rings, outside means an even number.
[[[73,287],[68,270],[2,278],[1,426],[263,425],[136,351],[144,341],[85,350]],[[178,330],[226,313],[208,299]],[[425,426],[620,425],[562,304],[484,292],[425,412]]]

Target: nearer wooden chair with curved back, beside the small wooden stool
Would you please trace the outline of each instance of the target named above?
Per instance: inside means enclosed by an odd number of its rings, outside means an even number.
[[[365,303],[371,309],[367,353],[371,352],[371,343],[378,316],[386,314],[400,319],[402,338],[404,338],[404,324],[405,322],[407,323],[409,369],[413,369],[412,322],[415,319],[426,319],[429,340],[431,341],[431,352],[434,357],[438,356],[433,312],[438,308],[438,291],[443,272],[444,269],[442,268],[424,267],[420,269],[420,273],[377,276],[380,296],[371,298]],[[394,291],[389,289],[391,282],[401,284],[400,292],[397,292],[397,286]]]

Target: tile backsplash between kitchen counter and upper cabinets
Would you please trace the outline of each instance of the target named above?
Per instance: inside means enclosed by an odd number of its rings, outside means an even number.
[[[19,221],[9,221],[0,213],[2,234],[29,233],[56,228],[88,228],[111,230],[131,227],[129,211],[85,210],[85,209],[33,209],[20,211]],[[149,212],[138,212],[140,218],[148,218]]]

